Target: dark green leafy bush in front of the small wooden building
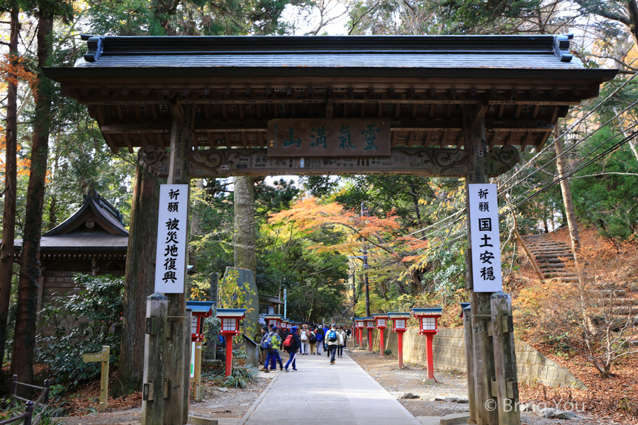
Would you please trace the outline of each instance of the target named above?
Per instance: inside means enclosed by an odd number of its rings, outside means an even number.
[[[83,363],[82,353],[99,353],[102,346],[111,346],[111,363],[117,356],[113,349],[120,346],[120,336],[111,331],[122,316],[124,279],[116,276],[74,276],[85,287],[78,295],[56,297],[42,310],[42,328],[53,327],[52,336],[40,337],[36,352],[38,361],[48,365],[54,374],[52,382],[76,386],[95,378],[101,371],[99,363]],[[79,321],[86,317],[86,321]]]

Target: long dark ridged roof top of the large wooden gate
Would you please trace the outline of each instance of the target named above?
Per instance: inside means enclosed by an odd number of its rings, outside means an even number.
[[[326,76],[347,73],[347,69],[428,69],[427,75],[435,72],[442,77],[452,69],[457,73],[464,69],[602,71],[584,69],[580,60],[569,55],[567,36],[560,35],[94,37],[85,58],[77,61],[74,71],[49,68],[47,75],[97,75],[113,68],[121,69],[118,77],[175,68],[189,68],[189,74],[198,77],[206,75],[206,69],[208,77],[230,69],[252,69],[255,75],[274,69],[279,74],[331,69]],[[133,74],[122,74],[122,68]]]

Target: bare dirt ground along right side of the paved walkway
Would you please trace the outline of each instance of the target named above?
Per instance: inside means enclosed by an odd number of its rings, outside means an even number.
[[[469,412],[467,402],[434,401],[435,397],[467,399],[467,379],[465,373],[454,371],[435,371],[438,382],[424,382],[427,370],[420,365],[404,363],[398,368],[396,356],[379,358],[379,353],[369,354],[367,351],[348,351],[348,355],[356,361],[372,378],[379,382],[388,392],[397,397],[405,409],[414,416],[444,416],[453,413]],[[401,399],[402,395],[411,392],[420,396],[418,399]],[[525,402],[525,400],[521,400]],[[552,407],[551,404],[548,407]],[[596,419],[591,415],[578,414],[575,419],[543,419],[534,413],[522,412],[522,424],[527,425],[611,425],[608,419]]]

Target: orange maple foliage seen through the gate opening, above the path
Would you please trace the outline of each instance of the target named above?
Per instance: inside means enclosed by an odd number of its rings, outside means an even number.
[[[365,244],[371,256],[389,256],[391,261],[405,263],[420,259],[418,251],[427,247],[427,240],[401,237],[401,224],[396,215],[361,217],[359,211],[346,210],[339,203],[320,203],[314,197],[298,200],[291,209],[271,215],[269,222],[287,225],[291,232],[313,232],[320,227],[342,232],[346,235],[340,239],[342,242],[312,248],[343,254],[358,255]]]

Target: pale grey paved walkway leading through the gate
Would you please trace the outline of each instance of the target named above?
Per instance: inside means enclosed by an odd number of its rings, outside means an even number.
[[[297,356],[298,371],[278,372],[240,425],[420,425],[346,353],[335,365]]]

